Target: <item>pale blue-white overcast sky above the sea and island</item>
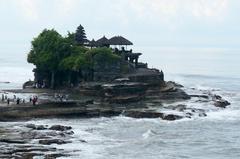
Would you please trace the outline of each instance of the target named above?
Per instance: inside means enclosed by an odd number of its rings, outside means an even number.
[[[240,46],[239,0],[0,0],[0,51],[26,52],[44,28],[138,46]]]

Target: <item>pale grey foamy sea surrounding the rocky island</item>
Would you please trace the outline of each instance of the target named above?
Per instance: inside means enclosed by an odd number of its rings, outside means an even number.
[[[184,101],[206,110],[206,117],[163,121],[124,116],[92,119],[44,119],[1,122],[2,126],[61,124],[73,127],[72,143],[56,145],[70,157],[86,159],[239,159],[240,49],[140,47],[141,61],[164,71],[165,80],[178,82],[188,93],[211,92],[231,102],[226,109]],[[1,53],[0,89],[21,88],[33,79],[26,54]],[[10,83],[6,83],[10,82]],[[87,141],[86,143],[81,140]]]

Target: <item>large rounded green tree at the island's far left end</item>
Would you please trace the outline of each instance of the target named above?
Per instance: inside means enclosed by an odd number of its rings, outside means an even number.
[[[69,54],[70,46],[57,31],[43,30],[32,41],[32,49],[28,54],[28,62],[37,69],[50,72],[51,88],[55,87],[55,75],[59,70],[59,62]]]

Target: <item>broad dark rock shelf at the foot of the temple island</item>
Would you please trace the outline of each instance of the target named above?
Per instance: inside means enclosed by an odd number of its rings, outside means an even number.
[[[160,86],[149,86],[146,83],[88,83],[80,89],[59,91],[68,93],[70,99],[59,101],[54,99],[54,91],[39,93],[39,103],[31,103],[0,107],[0,121],[31,120],[33,118],[93,118],[123,115],[132,118],[161,118],[178,120],[192,116],[206,116],[205,110],[188,108],[177,104],[195,98],[196,102],[209,102],[213,107],[226,108],[230,103],[219,95],[188,95],[183,86],[174,82],[165,82]],[[35,93],[37,89],[15,91],[18,93]],[[41,99],[42,97],[42,99]],[[164,106],[168,103],[168,106]],[[169,106],[170,104],[170,106]],[[181,115],[163,112],[159,108],[181,112]]]

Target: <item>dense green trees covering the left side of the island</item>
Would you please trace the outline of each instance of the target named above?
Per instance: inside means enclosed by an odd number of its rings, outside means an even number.
[[[111,49],[90,49],[84,46],[86,41],[81,25],[66,37],[54,29],[43,30],[33,39],[27,59],[36,66],[36,82],[51,88],[76,85],[93,80],[96,66],[107,67],[120,61]]]

